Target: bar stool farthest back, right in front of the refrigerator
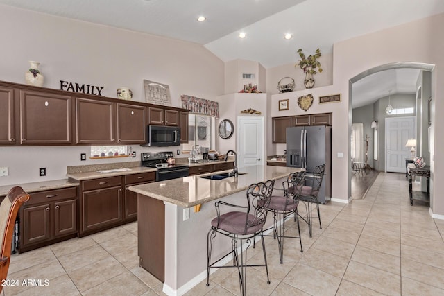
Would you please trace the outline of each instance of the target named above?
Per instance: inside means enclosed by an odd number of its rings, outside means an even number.
[[[304,202],[305,209],[307,210],[307,216],[300,217],[308,224],[308,230],[310,237],[312,236],[312,220],[319,220],[319,229],[322,229],[321,225],[321,212],[319,211],[319,190],[321,190],[321,185],[325,173],[325,164],[315,166],[312,173],[305,174],[305,185],[296,190],[300,192],[299,199]],[[313,216],[313,207],[316,205],[316,211],[318,216]]]

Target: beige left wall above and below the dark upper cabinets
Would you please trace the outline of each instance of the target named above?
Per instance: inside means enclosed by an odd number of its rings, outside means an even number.
[[[24,83],[28,60],[40,62],[44,87],[60,89],[60,80],[105,87],[102,94],[117,97],[117,88],[133,90],[134,101],[145,101],[143,80],[169,85],[172,105],[181,107],[180,95],[214,99],[224,93],[224,64],[205,47],[109,26],[54,17],[0,5],[0,80]],[[139,153],[169,148],[142,148]],[[65,178],[66,166],[99,164],[80,162],[89,146],[0,147],[0,166],[10,175],[0,185]],[[182,156],[182,155],[180,155]],[[46,177],[38,168],[46,167]]]

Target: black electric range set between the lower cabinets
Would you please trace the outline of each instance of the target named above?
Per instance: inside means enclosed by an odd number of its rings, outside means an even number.
[[[156,181],[171,180],[179,177],[188,176],[189,166],[187,164],[168,165],[168,157],[174,157],[172,152],[142,152],[140,154],[140,157],[140,166],[157,168],[157,171],[155,173]]]

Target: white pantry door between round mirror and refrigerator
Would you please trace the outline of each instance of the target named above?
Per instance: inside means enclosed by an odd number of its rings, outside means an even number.
[[[238,117],[239,167],[264,164],[264,117]]]

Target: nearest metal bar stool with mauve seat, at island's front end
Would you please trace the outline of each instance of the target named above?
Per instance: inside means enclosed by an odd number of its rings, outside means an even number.
[[[241,295],[246,295],[246,268],[254,266],[265,266],[267,284],[270,284],[268,277],[268,265],[266,263],[266,252],[262,228],[264,227],[268,211],[258,206],[258,202],[268,204],[273,192],[274,180],[251,184],[246,192],[246,206],[230,204],[228,202],[215,202],[217,217],[211,221],[211,229],[207,236],[207,286],[210,285],[210,268],[237,268],[239,272],[239,287]],[[229,211],[221,214],[221,206],[244,209],[244,211]],[[223,255],[220,259],[212,262],[212,244],[216,234],[223,234],[231,239],[232,250]],[[262,251],[264,253],[263,265],[247,265],[247,249],[251,245],[251,240],[260,235],[262,238]],[[240,250],[238,250],[238,244]],[[244,253],[245,251],[245,253]],[[216,265],[221,260],[232,254],[233,265]]]

